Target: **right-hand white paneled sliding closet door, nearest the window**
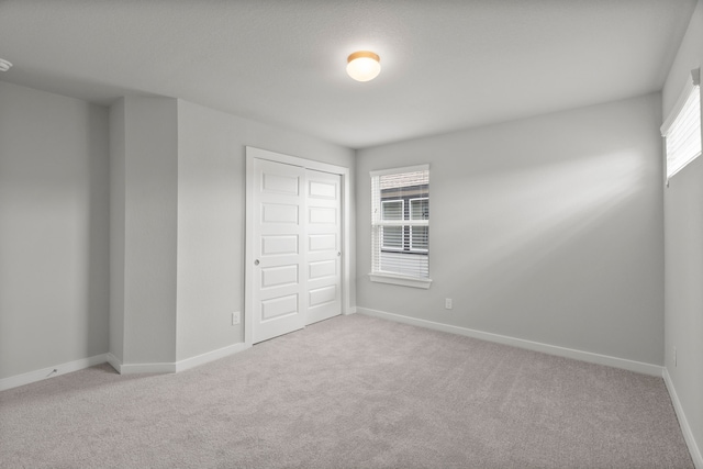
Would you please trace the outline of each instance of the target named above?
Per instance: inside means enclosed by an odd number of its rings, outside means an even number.
[[[305,324],[342,314],[342,177],[305,170]]]

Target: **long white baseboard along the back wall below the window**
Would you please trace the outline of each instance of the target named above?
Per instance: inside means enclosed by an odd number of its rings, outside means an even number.
[[[467,327],[453,326],[449,324],[436,323],[433,321],[419,320],[415,317],[403,316],[401,314],[387,313],[384,311],[370,310],[368,308],[357,306],[357,311],[368,316],[380,317],[383,320],[395,321],[399,323],[410,324],[420,327],[426,327],[434,331],[448,332],[451,334],[464,335],[467,337],[479,338],[481,340],[494,342],[498,344],[510,345],[528,350],[542,351],[544,354],[556,355],[565,358],[573,358],[576,360],[587,361],[589,364],[605,365],[613,368],[620,368],[629,371],[636,371],[643,375],[661,377],[663,367],[658,365],[645,364],[641,361],[628,360],[625,358],[611,357],[607,355],[593,354],[591,351],[577,350],[573,348],[559,347],[556,345],[542,344],[539,342],[525,340],[522,338],[510,337],[506,335],[492,334],[482,331],[476,331]]]

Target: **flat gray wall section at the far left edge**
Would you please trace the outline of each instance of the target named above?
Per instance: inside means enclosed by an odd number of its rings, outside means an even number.
[[[108,110],[0,82],[0,378],[108,351]]]

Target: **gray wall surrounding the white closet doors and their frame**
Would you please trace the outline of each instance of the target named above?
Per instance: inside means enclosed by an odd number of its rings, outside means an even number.
[[[352,149],[178,101],[178,360],[244,339],[247,145],[354,172]]]

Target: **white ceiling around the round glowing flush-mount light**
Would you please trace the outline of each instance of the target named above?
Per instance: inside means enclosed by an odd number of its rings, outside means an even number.
[[[658,91],[695,1],[0,0],[0,80],[361,148]],[[353,81],[367,48],[381,75]]]

